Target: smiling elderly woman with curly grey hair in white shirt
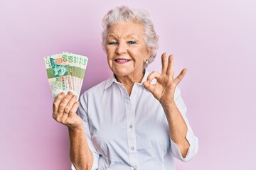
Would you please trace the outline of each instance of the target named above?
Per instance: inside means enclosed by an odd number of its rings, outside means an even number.
[[[59,94],[53,118],[68,126],[73,169],[175,169],[198,151],[176,87],[174,57],[161,55],[162,69],[146,71],[158,48],[148,13],[120,6],[103,18],[102,44],[113,76],[80,97]],[[78,115],[76,111],[78,110]]]

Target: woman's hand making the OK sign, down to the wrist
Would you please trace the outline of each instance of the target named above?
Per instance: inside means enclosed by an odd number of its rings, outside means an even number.
[[[174,79],[174,55],[169,56],[166,60],[166,53],[161,56],[162,69],[159,72],[151,72],[144,81],[146,89],[151,91],[154,97],[159,100],[164,108],[169,108],[174,105],[174,92],[176,86],[186,74],[187,69],[183,69],[178,77]],[[153,79],[156,79],[156,84],[150,84]]]

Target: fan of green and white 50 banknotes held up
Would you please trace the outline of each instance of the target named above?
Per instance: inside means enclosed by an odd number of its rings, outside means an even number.
[[[61,92],[72,91],[80,95],[85,77],[87,57],[69,52],[44,57],[53,99]]]

